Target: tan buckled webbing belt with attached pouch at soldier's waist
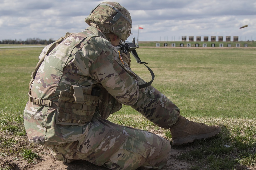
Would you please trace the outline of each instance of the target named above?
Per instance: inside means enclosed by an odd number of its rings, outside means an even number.
[[[99,96],[93,95],[99,95],[100,91],[96,88],[96,90],[92,89],[92,95],[83,94],[83,91],[82,94],[80,94],[82,87],[74,87],[71,86],[71,93],[61,91],[59,101],[38,99],[32,96],[29,96],[29,101],[37,105],[57,107],[56,124],[83,126],[93,118],[100,98]],[[80,89],[77,90],[76,88]],[[74,92],[72,92],[72,89]],[[80,99],[77,99],[77,96],[79,96]]]

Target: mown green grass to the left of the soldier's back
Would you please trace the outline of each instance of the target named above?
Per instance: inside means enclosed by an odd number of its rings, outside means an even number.
[[[23,112],[31,73],[42,48],[0,49],[0,111]]]

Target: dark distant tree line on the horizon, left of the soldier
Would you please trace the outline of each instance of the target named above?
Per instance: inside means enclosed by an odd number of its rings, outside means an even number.
[[[55,40],[52,40],[51,38],[49,40],[41,40],[40,38],[28,38],[27,40],[2,40],[0,41],[0,44],[51,44]]]

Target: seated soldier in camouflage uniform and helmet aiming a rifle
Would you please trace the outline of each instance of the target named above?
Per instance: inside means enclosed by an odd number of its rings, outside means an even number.
[[[131,34],[129,12],[116,2],[103,2],[85,19],[90,27],[67,33],[46,46],[32,73],[24,125],[32,143],[47,146],[56,160],[86,160],[109,169],[160,169],[170,142],[156,134],[120,126],[108,116],[130,105],[157,126],[170,129],[172,144],[218,134],[180,116],[165,95],[129,67],[129,52],[113,46]],[[193,130],[192,130],[193,129]]]

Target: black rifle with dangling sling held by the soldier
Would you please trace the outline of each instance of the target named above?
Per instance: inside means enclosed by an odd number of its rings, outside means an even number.
[[[147,67],[147,69],[150,71],[151,73],[151,77],[152,77],[152,80],[147,82],[147,83],[144,83],[144,84],[140,84],[139,85],[139,89],[141,88],[145,88],[149,85],[151,85],[151,83],[153,82],[154,78],[155,78],[155,74],[153,73],[153,71],[146,65],[148,63],[144,62],[144,61],[141,61],[140,60],[140,57],[138,56],[137,52],[136,52],[136,48],[139,48],[138,45],[135,44],[135,37],[133,37],[132,39],[132,43],[122,43],[118,46],[114,46],[114,48],[116,50],[118,50],[120,53],[127,53],[127,52],[130,52],[132,53],[133,57],[136,59],[137,63],[139,64],[144,64],[144,66]]]

